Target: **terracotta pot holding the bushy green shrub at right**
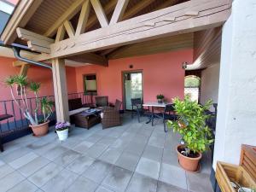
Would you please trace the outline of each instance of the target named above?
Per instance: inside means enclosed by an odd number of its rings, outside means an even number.
[[[177,159],[178,159],[180,166],[182,166],[183,169],[186,171],[196,172],[199,168],[198,164],[199,164],[199,161],[201,160],[201,156],[202,156],[201,153],[199,153],[198,157],[191,158],[191,157],[187,157],[187,156],[184,156],[183,154],[181,154],[178,150],[181,148],[183,148],[183,145],[178,145],[176,148]]]

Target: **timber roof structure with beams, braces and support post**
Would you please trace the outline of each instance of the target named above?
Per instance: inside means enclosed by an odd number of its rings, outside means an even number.
[[[28,58],[51,61],[57,120],[68,120],[65,61],[108,60],[191,46],[193,33],[222,26],[231,0],[20,0],[1,40],[27,44]],[[164,40],[163,40],[164,39]],[[150,41],[148,41],[150,40]],[[185,45],[184,45],[185,44]],[[143,54],[143,53],[140,53]],[[27,63],[15,61],[26,70]]]

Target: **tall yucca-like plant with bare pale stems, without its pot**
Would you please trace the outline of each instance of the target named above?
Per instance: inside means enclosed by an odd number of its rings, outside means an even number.
[[[31,123],[31,125],[38,125],[38,106],[39,106],[39,99],[38,99],[38,91],[40,90],[40,84],[36,82],[31,82],[27,80],[26,76],[23,75],[15,75],[15,76],[9,76],[4,80],[4,83],[9,86],[11,96],[15,101],[15,104],[20,108],[20,111],[23,113],[26,119],[28,119]],[[31,90],[35,97],[36,97],[36,107],[33,110],[34,116],[32,116],[32,113],[30,113],[30,108],[27,102],[27,96],[26,96],[26,88],[29,87],[29,90]],[[15,96],[15,88],[20,89],[20,99],[21,103],[18,102],[18,95]],[[44,100],[44,102],[42,102]],[[44,122],[46,122],[49,119],[50,114],[52,113],[52,107],[53,103],[47,100],[46,98],[43,98],[41,101],[41,106],[44,105],[44,110],[42,108],[42,113],[44,116]]]

